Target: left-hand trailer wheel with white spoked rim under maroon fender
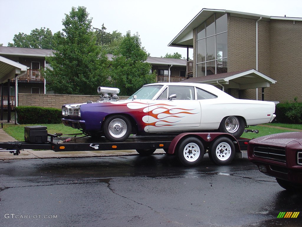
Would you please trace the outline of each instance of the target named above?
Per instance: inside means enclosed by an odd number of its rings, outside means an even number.
[[[185,166],[196,166],[204,157],[204,145],[195,137],[189,137],[179,144],[178,159]]]

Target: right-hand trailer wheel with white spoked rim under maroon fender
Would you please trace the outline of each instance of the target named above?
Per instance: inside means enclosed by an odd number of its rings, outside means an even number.
[[[232,140],[220,137],[209,147],[209,157],[217,165],[227,165],[235,157],[235,145]]]

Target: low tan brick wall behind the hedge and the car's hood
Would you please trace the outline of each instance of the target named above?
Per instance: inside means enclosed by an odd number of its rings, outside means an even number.
[[[119,96],[127,99],[126,96]],[[61,109],[64,104],[85,103],[88,100],[97,101],[98,95],[66,95],[66,94],[18,94],[19,106],[53,107]]]

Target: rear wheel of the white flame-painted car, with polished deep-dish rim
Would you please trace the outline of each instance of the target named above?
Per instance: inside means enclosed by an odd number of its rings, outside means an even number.
[[[245,122],[242,117],[229,116],[222,119],[219,130],[239,138],[244,132]]]

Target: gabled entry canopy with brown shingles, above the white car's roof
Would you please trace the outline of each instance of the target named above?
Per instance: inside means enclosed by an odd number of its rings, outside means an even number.
[[[182,82],[211,84],[214,86],[220,86],[223,88],[223,90],[228,88],[236,88],[241,90],[269,87],[270,84],[275,84],[277,81],[255,69],[249,69],[230,73],[220,73],[204,77],[193,77]]]

